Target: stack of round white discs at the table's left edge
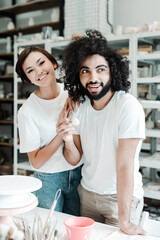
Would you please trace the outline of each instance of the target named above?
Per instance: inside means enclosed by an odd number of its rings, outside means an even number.
[[[31,192],[41,187],[42,182],[34,177],[0,176],[0,216],[21,214],[35,208],[38,199]]]

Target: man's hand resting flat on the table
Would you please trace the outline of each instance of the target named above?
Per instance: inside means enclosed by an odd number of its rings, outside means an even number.
[[[132,223],[120,225],[120,230],[128,235],[146,235],[147,234],[143,228],[136,226]]]

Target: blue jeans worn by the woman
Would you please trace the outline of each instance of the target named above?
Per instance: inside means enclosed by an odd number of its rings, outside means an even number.
[[[35,192],[38,207],[50,209],[58,189],[61,196],[55,210],[71,215],[80,215],[78,185],[81,181],[81,166],[73,170],[58,173],[35,172],[34,176],[42,181],[42,188]]]

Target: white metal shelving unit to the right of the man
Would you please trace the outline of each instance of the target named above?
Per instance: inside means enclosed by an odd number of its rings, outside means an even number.
[[[160,169],[160,146],[157,143],[157,139],[160,138],[160,129],[156,126],[156,121],[160,119],[160,91],[158,85],[160,85],[160,73],[158,72],[158,65],[160,64],[160,52],[158,45],[160,44],[160,32],[150,32],[136,34],[134,37],[135,45],[139,46],[148,45],[152,46],[152,52],[145,52],[136,55],[136,67],[148,67],[151,71],[148,71],[148,76],[136,77],[137,89],[138,86],[148,86],[148,92],[146,96],[138,96],[145,112],[146,120],[147,114],[150,114],[150,124],[146,122],[146,136],[150,138],[150,143],[145,143],[142,149],[148,150],[148,156],[140,157],[140,166],[150,169],[150,178],[144,183],[144,196],[146,198],[160,200],[160,188],[158,185],[158,179],[156,178],[157,169]]]

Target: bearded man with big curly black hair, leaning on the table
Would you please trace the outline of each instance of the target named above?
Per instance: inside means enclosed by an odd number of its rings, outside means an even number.
[[[75,165],[83,157],[79,186],[81,214],[120,226],[126,234],[145,234],[137,224],[143,208],[138,156],[145,138],[142,106],[128,94],[129,64],[98,31],[88,30],[64,51],[64,83],[80,121],[73,128],[63,112],[57,132],[64,156]]]

